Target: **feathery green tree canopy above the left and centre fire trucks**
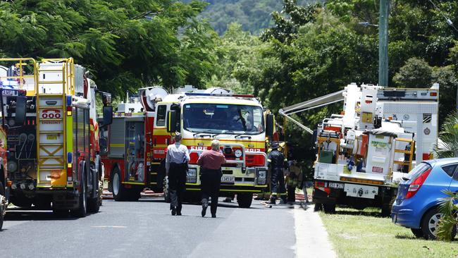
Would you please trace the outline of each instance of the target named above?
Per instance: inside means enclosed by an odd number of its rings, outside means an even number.
[[[204,84],[213,39],[205,4],[172,0],[0,2],[0,55],[73,56],[102,90]]]

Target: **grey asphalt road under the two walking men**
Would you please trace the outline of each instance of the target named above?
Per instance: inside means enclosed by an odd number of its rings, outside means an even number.
[[[168,205],[154,197],[104,200],[99,213],[82,219],[11,209],[0,257],[295,257],[292,207],[220,203],[212,219],[193,204],[171,216]]]

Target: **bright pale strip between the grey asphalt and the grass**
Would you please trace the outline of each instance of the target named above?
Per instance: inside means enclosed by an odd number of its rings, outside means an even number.
[[[294,209],[296,233],[296,257],[337,257],[330,244],[328,232],[314,207],[307,210],[296,206]]]

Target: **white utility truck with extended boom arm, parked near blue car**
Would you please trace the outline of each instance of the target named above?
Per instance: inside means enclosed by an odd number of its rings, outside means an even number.
[[[427,89],[350,84],[345,90],[288,106],[280,114],[316,139],[315,209],[380,207],[389,215],[397,183],[433,157],[439,86]],[[310,130],[292,114],[343,101],[340,114]]]

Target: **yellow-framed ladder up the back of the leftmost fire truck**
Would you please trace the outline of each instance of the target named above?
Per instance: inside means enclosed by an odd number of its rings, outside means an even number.
[[[67,95],[74,94],[73,59],[44,59],[37,82],[37,187],[67,184]],[[70,128],[70,132],[66,131]]]

